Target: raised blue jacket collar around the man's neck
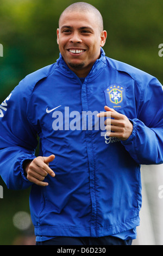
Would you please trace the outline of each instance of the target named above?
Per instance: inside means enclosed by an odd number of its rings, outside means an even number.
[[[62,71],[64,71],[65,75],[69,77],[76,76],[76,74],[74,74],[74,72],[70,68],[68,68],[67,64],[65,63],[65,60],[61,56],[61,53],[59,54],[59,59],[57,59],[57,65],[60,67]],[[96,62],[93,64],[92,69],[87,75],[87,78],[96,78],[99,75],[99,73],[103,70],[104,66],[105,66],[105,52],[101,47],[101,57],[97,59]]]

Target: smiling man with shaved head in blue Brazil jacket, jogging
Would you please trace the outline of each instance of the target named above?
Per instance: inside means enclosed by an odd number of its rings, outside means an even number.
[[[140,164],[163,162],[162,86],[105,57],[105,40],[99,11],[70,5],[57,63],[25,77],[1,105],[1,176],[11,189],[32,186],[38,245],[131,245]],[[106,133],[97,128],[104,118]]]

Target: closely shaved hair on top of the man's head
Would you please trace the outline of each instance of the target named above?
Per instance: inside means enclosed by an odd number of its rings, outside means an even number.
[[[93,13],[96,15],[97,21],[98,21],[98,25],[99,25],[99,29],[101,30],[101,32],[104,29],[103,26],[103,17],[101,15],[101,13],[99,12],[99,10],[94,7],[93,5],[89,4],[89,3],[85,3],[85,2],[77,2],[77,3],[73,3],[71,5],[69,5],[60,15],[59,18],[59,23],[61,20],[61,17],[63,14],[65,13],[71,13],[71,11],[80,11],[83,13]]]

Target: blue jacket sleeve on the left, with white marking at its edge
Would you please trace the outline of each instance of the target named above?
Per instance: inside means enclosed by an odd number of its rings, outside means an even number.
[[[37,147],[37,132],[26,113],[30,93],[22,80],[0,105],[0,175],[13,190],[32,184],[23,171],[23,161],[33,160]]]

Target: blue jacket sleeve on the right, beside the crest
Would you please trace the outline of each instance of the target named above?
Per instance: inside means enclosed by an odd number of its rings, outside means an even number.
[[[133,133],[121,143],[139,164],[163,163],[163,90],[152,78],[142,97],[133,122]]]

